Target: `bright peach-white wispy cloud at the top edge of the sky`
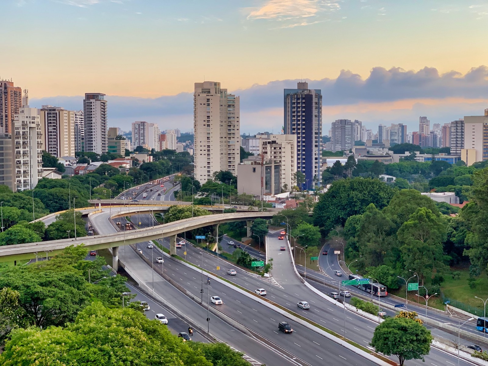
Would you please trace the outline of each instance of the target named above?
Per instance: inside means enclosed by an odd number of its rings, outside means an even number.
[[[261,7],[248,8],[248,20],[290,20],[319,15],[326,10],[339,10],[333,0],[266,0]]]

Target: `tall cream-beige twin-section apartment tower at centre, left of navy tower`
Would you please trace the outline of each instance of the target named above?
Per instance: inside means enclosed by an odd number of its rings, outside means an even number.
[[[220,82],[196,82],[193,126],[195,179],[203,184],[219,170],[237,175],[241,146],[240,98],[221,89]]]

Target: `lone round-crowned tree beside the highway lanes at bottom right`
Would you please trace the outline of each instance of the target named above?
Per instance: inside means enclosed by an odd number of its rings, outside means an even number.
[[[397,356],[403,366],[406,360],[424,360],[432,339],[430,330],[411,319],[388,318],[375,328],[370,345],[386,356]]]

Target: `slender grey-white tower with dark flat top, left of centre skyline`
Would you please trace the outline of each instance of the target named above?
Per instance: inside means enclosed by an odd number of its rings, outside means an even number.
[[[84,148],[86,152],[106,154],[107,141],[107,101],[105,94],[85,93],[83,100]]]

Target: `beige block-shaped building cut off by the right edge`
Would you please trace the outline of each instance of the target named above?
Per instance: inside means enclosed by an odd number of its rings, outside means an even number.
[[[464,117],[463,150],[470,149],[474,150],[474,162],[488,160],[488,109],[485,109],[484,116]],[[464,152],[465,154],[467,153],[467,151]],[[473,152],[469,152],[470,156],[472,154]],[[463,153],[461,153],[461,158],[463,159]],[[468,159],[469,162],[472,162],[472,160],[472,158]]]

